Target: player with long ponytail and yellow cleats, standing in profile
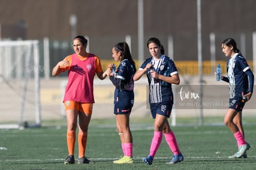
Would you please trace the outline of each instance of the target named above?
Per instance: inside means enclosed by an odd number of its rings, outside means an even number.
[[[114,114],[116,127],[121,140],[124,156],[113,161],[114,164],[134,163],[132,158],[132,133],[130,132],[130,113],[134,105],[134,74],[135,62],[130,54],[127,43],[117,43],[112,48],[114,61],[120,61],[117,70],[110,74],[109,79],[116,87],[114,90]],[[113,64],[109,67],[113,68]]]

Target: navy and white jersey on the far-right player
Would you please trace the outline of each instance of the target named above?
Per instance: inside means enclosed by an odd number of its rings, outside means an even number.
[[[236,53],[227,63],[227,72],[229,79],[229,98],[242,98],[242,95],[248,93],[249,82],[245,74],[250,67],[241,54]]]

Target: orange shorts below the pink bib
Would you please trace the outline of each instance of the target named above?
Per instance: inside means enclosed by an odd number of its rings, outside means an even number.
[[[76,101],[64,101],[65,110],[77,110],[82,113],[92,114],[93,103],[79,103]]]

